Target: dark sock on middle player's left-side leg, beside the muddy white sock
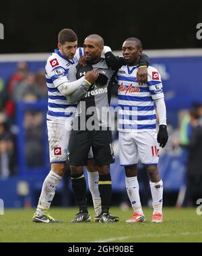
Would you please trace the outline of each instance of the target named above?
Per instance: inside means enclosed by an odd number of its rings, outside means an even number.
[[[86,180],[81,174],[71,174],[71,186],[75,194],[75,199],[79,205],[79,211],[88,213],[86,199]]]

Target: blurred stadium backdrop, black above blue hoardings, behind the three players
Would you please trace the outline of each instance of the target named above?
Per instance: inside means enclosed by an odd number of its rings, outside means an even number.
[[[50,170],[44,64],[57,47],[57,34],[62,28],[77,32],[79,46],[88,34],[100,34],[119,55],[128,37],[136,36],[143,42],[151,65],[162,76],[166,99],[170,138],[166,148],[160,150],[159,164],[164,205],[180,206],[189,151],[178,145],[189,145],[189,110],[195,107],[202,116],[202,40],[196,36],[196,26],[202,22],[202,3],[154,1],[144,6],[131,1],[121,7],[104,0],[67,1],[59,7],[46,1],[30,1],[27,5],[27,1],[8,0],[1,3],[0,10],[4,26],[4,39],[0,40],[0,198],[5,207],[35,207]],[[114,84],[114,106],[116,90]],[[127,206],[117,132],[113,135],[113,204]],[[142,165],[139,169],[141,200],[143,205],[150,205],[149,182]],[[202,196],[202,184],[200,193]],[[69,171],[57,189],[53,205],[74,205]]]

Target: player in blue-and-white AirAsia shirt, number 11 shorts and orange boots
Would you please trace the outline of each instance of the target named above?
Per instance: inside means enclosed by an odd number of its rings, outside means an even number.
[[[144,222],[145,216],[139,198],[137,163],[140,159],[149,176],[152,205],[154,208],[151,222],[162,222],[163,182],[158,172],[159,145],[165,147],[168,141],[166,126],[166,105],[162,81],[156,68],[148,66],[146,83],[137,82],[139,56],[142,43],[137,38],[129,38],[123,43],[125,64],[119,66],[119,157],[125,167],[125,183],[133,208],[133,216],[127,223]],[[113,59],[108,53],[108,61]],[[160,128],[156,132],[156,110]],[[159,143],[159,144],[158,144]]]

